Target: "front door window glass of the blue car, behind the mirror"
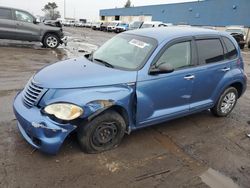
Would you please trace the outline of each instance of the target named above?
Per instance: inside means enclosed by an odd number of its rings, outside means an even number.
[[[168,63],[174,69],[184,68],[191,65],[191,41],[174,44],[166,49],[156,66]]]

